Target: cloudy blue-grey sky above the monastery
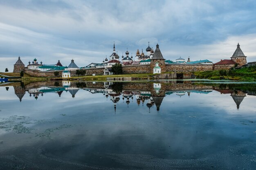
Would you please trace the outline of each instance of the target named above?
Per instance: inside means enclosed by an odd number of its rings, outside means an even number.
[[[239,42],[256,61],[255,0],[1,0],[0,71],[58,60],[79,67],[126,48],[133,57],[156,44],[165,59],[218,62]]]

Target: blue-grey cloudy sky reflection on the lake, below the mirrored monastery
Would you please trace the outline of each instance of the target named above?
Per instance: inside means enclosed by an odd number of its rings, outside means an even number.
[[[102,93],[92,94],[81,89],[74,98],[65,91],[61,97],[57,93],[45,93],[38,100],[26,94],[20,103],[16,96],[19,103],[16,107],[12,107],[13,101],[9,100],[1,104],[1,118],[14,113],[18,117],[28,116],[33,124],[25,125],[25,120],[20,121],[23,121],[23,126],[34,130],[25,135],[1,133],[4,140],[0,149],[16,155],[18,151],[15,148],[19,148],[41,162],[58,159],[65,164],[68,160],[74,166],[78,163],[129,165],[136,161],[130,159],[129,155],[144,162],[153,157],[156,161],[161,158],[166,162],[190,160],[195,163],[214,157],[218,164],[222,162],[219,154],[225,152],[228,154],[224,155],[230,160],[236,159],[240,155],[239,144],[255,140],[253,132],[256,123],[249,120],[255,119],[252,113],[255,113],[256,96],[247,95],[237,111],[230,94],[191,92],[190,97],[187,93],[177,97],[173,93],[164,97],[159,112],[153,105],[150,113],[146,106],[148,100],[145,100],[144,106],[138,106],[136,97],[133,102],[130,97],[127,108],[122,96],[119,97],[115,114],[113,102],[110,99],[106,101]],[[231,116],[233,112],[239,115]],[[40,119],[49,121],[35,122]],[[12,128],[15,125],[24,130],[20,122],[13,124]],[[234,146],[235,152],[229,152],[229,146]],[[243,146],[244,150],[248,148],[249,145]],[[244,157],[241,159],[244,163]],[[214,162],[213,159],[211,161]],[[152,164],[151,159],[147,162]],[[189,161],[186,163],[193,164]],[[136,165],[143,164],[136,162]]]

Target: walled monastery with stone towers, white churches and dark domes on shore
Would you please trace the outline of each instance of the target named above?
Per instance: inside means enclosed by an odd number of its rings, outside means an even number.
[[[178,72],[178,73],[189,73],[194,71],[210,71],[210,70],[222,70],[229,69],[231,67],[244,67],[249,66],[247,64],[246,56],[240,49],[239,43],[234,54],[231,56],[230,60],[221,60],[220,62],[213,62],[209,60],[199,60],[191,61],[188,57],[186,61],[182,57],[177,58],[175,61],[164,59],[160,49],[159,44],[156,44],[156,49],[154,51],[153,47],[150,47],[148,42],[148,47],[146,48],[146,53],[143,49],[139,51],[137,49],[135,57],[130,55],[128,49],[126,49],[125,55],[122,54],[121,57],[116,52],[115,42],[113,45],[112,54],[103,59],[100,63],[91,63],[87,66],[78,67],[74,60],[68,66],[63,66],[58,60],[56,64],[43,64],[37,62],[35,58],[32,63],[29,61],[28,65],[25,64],[18,57],[18,61],[14,64],[13,73],[20,73],[24,71],[25,73],[36,76],[36,77],[63,77],[69,78],[76,75],[76,70],[86,70],[85,75],[112,75],[112,66],[115,64],[121,64],[124,74],[136,74],[136,73],[166,73],[166,72]],[[58,75],[54,72],[59,72]]]

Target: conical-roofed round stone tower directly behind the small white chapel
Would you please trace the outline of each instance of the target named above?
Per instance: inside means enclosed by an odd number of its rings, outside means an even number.
[[[153,69],[155,67],[156,62],[158,62],[158,66],[161,68],[161,72],[166,72],[166,66],[165,66],[165,59],[159,49],[159,45],[156,45],[157,48],[155,49],[155,53],[150,61],[150,73],[153,73]]]

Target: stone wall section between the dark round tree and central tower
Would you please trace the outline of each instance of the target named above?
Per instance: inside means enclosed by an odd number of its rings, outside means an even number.
[[[150,72],[150,64],[123,66],[123,74],[140,74]]]

